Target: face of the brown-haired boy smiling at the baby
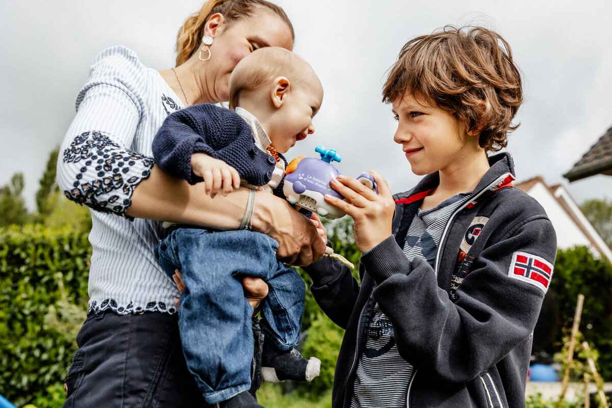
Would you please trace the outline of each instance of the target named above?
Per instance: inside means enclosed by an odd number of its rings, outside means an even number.
[[[393,139],[401,144],[414,174],[452,174],[483,154],[466,125],[437,106],[421,105],[412,95],[398,97],[392,105],[398,121]]]

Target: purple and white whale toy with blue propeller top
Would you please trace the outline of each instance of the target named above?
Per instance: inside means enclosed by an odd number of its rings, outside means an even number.
[[[324,195],[329,194],[344,199],[338,191],[330,187],[331,179],[338,177],[340,172],[332,161],[340,162],[340,155],[334,149],[317,146],[315,149],[321,158],[300,156],[291,160],[285,171],[283,193],[291,204],[296,204],[307,210],[316,212],[321,217],[335,220],[346,215],[338,207],[327,204]],[[362,173],[357,180],[375,190],[374,177]]]

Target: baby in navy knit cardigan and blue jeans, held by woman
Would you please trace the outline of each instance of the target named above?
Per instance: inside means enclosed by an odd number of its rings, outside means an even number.
[[[323,87],[312,67],[291,51],[266,47],[244,57],[230,77],[230,109],[193,105],[168,116],[153,142],[155,163],[206,191],[251,188],[243,229],[250,229],[255,190],[282,196],[286,161],[296,141],[314,132]],[[264,379],[312,380],[320,362],[294,351],[300,337],[305,287],[278,262],[277,242],[253,231],[213,232],[173,226],[156,255],[168,275],[180,270],[185,290],[179,329],[187,366],[209,404],[258,407],[251,386],[252,308],[242,278],[268,283],[261,302]],[[273,367],[273,368],[272,368]],[[264,371],[267,370],[267,371]]]

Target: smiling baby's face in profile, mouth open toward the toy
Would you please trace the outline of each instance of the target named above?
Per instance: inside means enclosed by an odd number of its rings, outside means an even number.
[[[323,87],[316,77],[292,85],[283,104],[268,122],[266,132],[272,147],[285,153],[306,136],[315,132],[312,119],[323,102]]]

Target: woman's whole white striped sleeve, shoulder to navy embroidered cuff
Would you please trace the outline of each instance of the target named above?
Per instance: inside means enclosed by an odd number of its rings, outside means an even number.
[[[127,49],[109,48],[94,60],[58,158],[58,185],[67,198],[132,219],[125,210],[153,166],[150,149],[135,151],[146,145],[136,139],[145,115],[146,73]]]

